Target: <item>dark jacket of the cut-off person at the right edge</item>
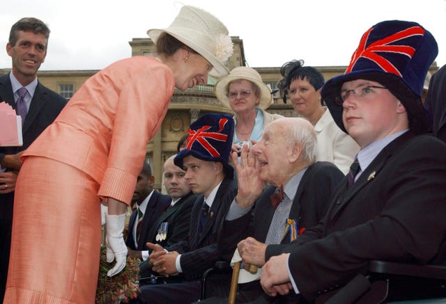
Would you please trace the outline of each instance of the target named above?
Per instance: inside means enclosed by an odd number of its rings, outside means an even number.
[[[431,77],[424,106],[431,114],[433,135],[446,143],[446,65]]]

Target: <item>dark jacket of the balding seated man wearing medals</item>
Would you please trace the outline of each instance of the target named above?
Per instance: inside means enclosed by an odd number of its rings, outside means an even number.
[[[187,236],[187,232],[189,232],[190,212],[197,197],[197,194],[190,192],[178,200],[174,207],[168,208],[153,224],[150,232],[148,232],[149,241],[158,243],[162,247],[171,246],[182,241]],[[158,227],[165,222],[168,223],[167,237],[162,241],[157,241],[155,238],[158,233]]]

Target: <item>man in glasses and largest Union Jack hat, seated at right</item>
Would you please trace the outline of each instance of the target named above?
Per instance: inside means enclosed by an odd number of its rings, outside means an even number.
[[[266,249],[267,294],[291,291],[312,301],[367,273],[371,259],[445,261],[446,145],[424,134],[430,121],[420,99],[437,53],[420,24],[380,22],[364,33],[346,73],[325,83],[334,121],[361,150],[323,223]],[[410,289],[403,288],[401,295]]]

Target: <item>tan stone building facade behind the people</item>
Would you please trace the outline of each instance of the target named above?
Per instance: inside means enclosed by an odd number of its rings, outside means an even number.
[[[243,49],[243,40],[238,36],[231,37],[234,45],[234,52],[229,58],[228,68],[246,65],[245,51]],[[155,44],[150,38],[133,38],[129,42],[132,48],[132,56],[154,56]],[[290,58],[292,59],[292,58]],[[295,58],[300,59],[300,58]],[[346,66],[316,67],[320,70],[325,81],[342,74]],[[280,67],[254,67],[265,83],[269,83],[274,89],[277,88],[277,82],[282,79]],[[436,63],[431,67],[431,73],[438,70]],[[1,69],[0,76],[10,72],[10,69]],[[97,70],[64,70],[64,71],[40,71],[38,79],[44,86],[60,93],[63,97],[69,99],[82,86],[82,83],[89,79]],[[155,176],[155,188],[161,188],[162,165],[171,155],[176,154],[176,145],[178,140],[187,131],[188,126],[199,116],[205,113],[230,113],[230,111],[215,98],[213,85],[216,79],[209,77],[208,85],[197,86],[195,88],[181,92],[175,90],[172,97],[169,110],[164,118],[157,134],[147,145],[146,158],[151,162],[153,175]],[[274,103],[267,110],[270,113],[279,113],[286,117],[297,116],[291,103],[284,104],[279,97],[279,93],[274,95]],[[131,151],[130,151],[131,153]]]

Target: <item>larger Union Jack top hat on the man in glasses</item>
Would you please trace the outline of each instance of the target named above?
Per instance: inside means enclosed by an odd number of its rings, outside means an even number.
[[[430,118],[421,95],[424,77],[438,54],[433,35],[420,24],[400,20],[379,22],[362,35],[344,74],[325,83],[321,95],[334,121],[344,132],[341,86],[346,81],[367,79],[390,90],[406,108],[410,129],[416,133],[429,130]]]

